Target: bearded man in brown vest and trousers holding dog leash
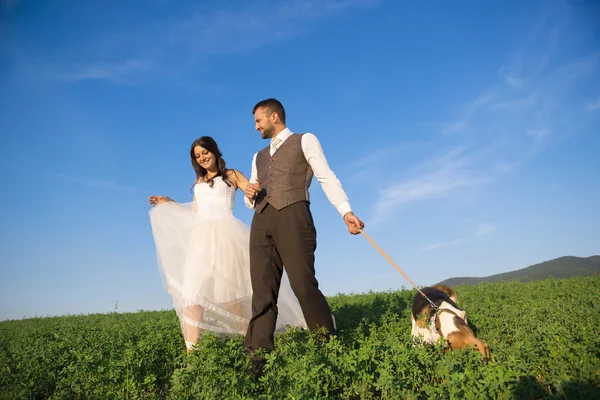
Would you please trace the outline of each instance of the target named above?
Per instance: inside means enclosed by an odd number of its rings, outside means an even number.
[[[254,155],[244,198],[255,210],[250,228],[252,318],[244,342],[250,353],[273,349],[284,266],[307,326],[334,332],[329,305],[315,278],[317,235],[308,193],[313,174],[344,218],[348,231],[356,235],[364,227],[352,213],[317,137],[292,133],[285,125],[283,105],[276,99],[257,103],[252,114],[256,130],[263,139],[270,139],[270,144]]]

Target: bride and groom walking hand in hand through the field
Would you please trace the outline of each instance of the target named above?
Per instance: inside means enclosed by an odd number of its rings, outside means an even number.
[[[252,160],[248,180],[226,167],[208,136],[190,149],[193,201],[151,196],[150,223],[159,271],[173,298],[188,351],[203,331],[245,335],[249,353],[270,351],[286,326],[335,331],[315,278],[316,230],[309,206],[313,176],[351,234],[360,233],[319,140],[292,133],[276,99],[257,103],[256,130],[269,146]],[[254,210],[250,229],[233,215],[237,189]],[[284,273],[285,271],[285,273]]]

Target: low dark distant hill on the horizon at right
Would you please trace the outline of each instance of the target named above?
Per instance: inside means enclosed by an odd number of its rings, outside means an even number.
[[[482,278],[450,278],[439,283],[442,285],[457,286],[462,284],[475,285],[480,282],[529,282],[546,278],[560,279],[572,276],[590,276],[598,274],[600,274],[600,256],[586,258],[566,256],[502,274],[490,275]]]

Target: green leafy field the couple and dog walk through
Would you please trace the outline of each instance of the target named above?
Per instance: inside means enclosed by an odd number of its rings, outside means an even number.
[[[242,337],[207,335],[186,357],[173,311],[5,321],[0,398],[600,398],[599,276],[455,289],[487,364],[413,347],[414,290],[399,290],[329,298],[337,337],[278,336],[259,380]]]

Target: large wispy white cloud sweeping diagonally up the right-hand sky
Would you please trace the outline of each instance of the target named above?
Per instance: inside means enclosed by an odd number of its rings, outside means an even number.
[[[408,176],[389,183],[374,203],[375,220],[384,220],[408,203],[461,195],[493,182],[552,143],[578,132],[585,118],[580,89],[589,77],[598,75],[600,53],[568,57],[570,44],[565,36],[569,21],[563,7],[551,7],[548,15],[534,24],[525,45],[498,69],[497,78],[482,87],[478,96],[449,101],[464,106],[440,131],[438,144],[432,147],[449,148],[446,156],[450,162],[429,160],[428,169],[413,169]],[[600,108],[600,99],[586,108]],[[435,120],[435,110],[432,114]],[[467,141],[474,143],[469,153],[457,153]],[[402,166],[402,170],[409,168]]]

